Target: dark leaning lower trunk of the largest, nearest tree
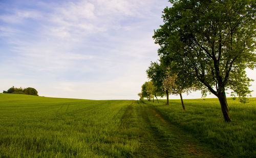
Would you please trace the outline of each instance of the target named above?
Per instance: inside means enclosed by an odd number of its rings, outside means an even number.
[[[229,110],[228,110],[227,98],[226,98],[225,91],[219,93],[217,95],[217,97],[218,97],[218,99],[220,101],[220,104],[221,104],[221,110],[222,110],[222,114],[223,114],[224,120],[226,122],[230,122],[231,119],[230,119],[230,116],[229,116]]]

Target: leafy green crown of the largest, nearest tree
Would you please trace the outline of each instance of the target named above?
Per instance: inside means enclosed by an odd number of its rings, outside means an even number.
[[[255,1],[170,1],[164,25],[153,36],[159,55],[178,73],[196,79],[204,95],[233,90],[240,98],[251,91],[245,69],[255,67]],[[185,72],[184,72],[185,71]],[[205,91],[207,90],[207,91]]]

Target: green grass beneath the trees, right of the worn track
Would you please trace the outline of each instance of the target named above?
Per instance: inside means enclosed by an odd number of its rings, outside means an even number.
[[[146,104],[153,104],[144,101]],[[249,103],[227,99],[232,122],[224,122],[218,99],[186,99],[186,110],[180,100],[170,105],[154,103],[168,121],[194,135],[200,142],[225,157],[255,157],[256,155],[256,98]]]

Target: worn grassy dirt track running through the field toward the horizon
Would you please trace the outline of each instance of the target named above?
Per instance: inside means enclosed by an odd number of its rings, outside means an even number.
[[[127,107],[123,123],[126,129],[137,130],[140,147],[135,157],[216,157],[152,106],[135,102]]]

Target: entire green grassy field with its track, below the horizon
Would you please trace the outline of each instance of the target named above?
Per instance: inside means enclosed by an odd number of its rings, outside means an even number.
[[[256,99],[81,100],[0,94],[0,157],[254,157]]]

